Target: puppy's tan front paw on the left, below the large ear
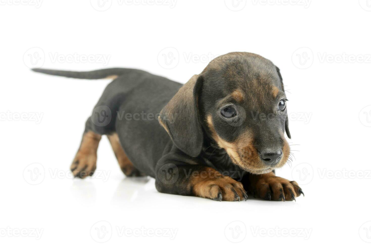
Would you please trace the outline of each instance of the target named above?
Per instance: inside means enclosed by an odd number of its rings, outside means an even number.
[[[247,200],[243,185],[236,180],[222,176],[218,171],[208,168],[208,176],[193,178],[193,192],[196,196],[209,198],[217,201],[240,201]]]

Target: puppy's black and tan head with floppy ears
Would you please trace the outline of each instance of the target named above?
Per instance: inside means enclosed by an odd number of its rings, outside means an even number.
[[[279,69],[251,53],[217,57],[194,75],[160,113],[160,123],[186,154],[200,154],[204,135],[234,164],[254,174],[282,167],[290,148],[286,96]],[[175,116],[170,122],[167,116]]]

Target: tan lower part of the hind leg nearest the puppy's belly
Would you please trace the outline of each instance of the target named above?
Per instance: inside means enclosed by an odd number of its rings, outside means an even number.
[[[107,136],[122,172],[127,176],[142,176],[142,174],[137,170],[137,168],[134,167],[133,163],[129,160],[128,156],[124,152],[124,149],[122,149],[117,133],[113,133]]]

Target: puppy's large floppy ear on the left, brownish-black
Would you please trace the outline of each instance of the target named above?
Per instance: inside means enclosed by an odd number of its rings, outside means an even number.
[[[191,157],[200,154],[203,133],[198,113],[202,76],[194,75],[161,110],[158,120],[174,144]]]

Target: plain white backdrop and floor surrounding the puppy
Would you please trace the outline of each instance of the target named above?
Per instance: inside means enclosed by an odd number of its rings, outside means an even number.
[[[0,2],[1,247],[370,245],[371,1],[108,0],[105,11],[89,0]],[[125,178],[105,137],[95,176],[70,178],[85,120],[109,80],[29,67],[130,67],[184,83],[232,51],[281,69],[296,151],[276,173],[298,181],[305,197],[161,194],[152,178]]]

